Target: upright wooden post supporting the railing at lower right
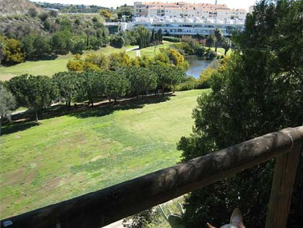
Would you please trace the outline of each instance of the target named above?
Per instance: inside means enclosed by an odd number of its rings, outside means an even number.
[[[276,158],[265,228],[286,228],[301,149],[302,140],[293,141],[292,149]]]

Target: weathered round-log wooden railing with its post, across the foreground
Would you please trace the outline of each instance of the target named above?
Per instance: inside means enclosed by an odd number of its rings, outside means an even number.
[[[303,126],[286,128],[93,193],[0,221],[1,227],[98,228],[276,157],[266,228],[285,228]]]

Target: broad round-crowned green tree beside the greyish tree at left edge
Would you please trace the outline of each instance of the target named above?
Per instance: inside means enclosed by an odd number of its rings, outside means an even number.
[[[38,112],[49,107],[58,97],[58,88],[48,76],[16,76],[9,81],[9,88],[18,105],[24,105],[35,112],[36,122],[39,122]]]

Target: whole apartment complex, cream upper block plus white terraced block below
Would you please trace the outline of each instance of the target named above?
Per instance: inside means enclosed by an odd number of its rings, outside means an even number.
[[[244,30],[245,18],[244,9],[229,9],[225,4],[136,1],[132,26],[161,29],[169,35],[209,35],[220,28],[228,36]]]

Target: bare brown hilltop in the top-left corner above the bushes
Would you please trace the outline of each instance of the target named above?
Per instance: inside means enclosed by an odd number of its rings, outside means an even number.
[[[44,11],[29,0],[1,0],[0,2],[0,14],[25,14],[30,8],[34,8],[39,13]]]

